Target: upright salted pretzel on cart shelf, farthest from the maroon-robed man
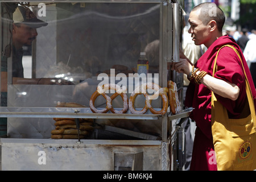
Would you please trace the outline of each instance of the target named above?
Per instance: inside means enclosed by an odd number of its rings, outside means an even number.
[[[111,97],[109,97],[105,93],[107,90],[115,90],[115,93]],[[94,106],[94,102],[95,102],[96,98],[100,95],[102,95],[105,98],[106,107],[105,107],[105,109],[98,110]],[[123,100],[123,109],[122,110],[115,110],[112,107],[112,101],[118,95],[120,95]],[[90,105],[90,110],[92,110],[93,113],[107,113],[109,110],[112,111],[112,113],[117,113],[117,114],[126,113],[126,111],[128,110],[128,97],[126,95],[126,87],[122,86],[122,89],[121,89],[120,86],[116,85],[116,84],[104,84],[102,86],[98,86],[97,90],[90,97],[89,105]]]

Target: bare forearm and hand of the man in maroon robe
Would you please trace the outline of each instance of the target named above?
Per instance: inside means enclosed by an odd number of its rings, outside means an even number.
[[[187,58],[180,59],[179,63],[172,64],[172,70],[174,69],[179,73],[189,75],[189,73],[192,71],[192,65],[188,62]],[[199,75],[199,73],[200,71],[196,72],[196,75]],[[237,100],[240,93],[240,89],[237,85],[226,82],[224,80],[220,80],[218,78],[214,78],[210,75],[203,77],[200,82],[219,96],[229,98],[233,101]]]

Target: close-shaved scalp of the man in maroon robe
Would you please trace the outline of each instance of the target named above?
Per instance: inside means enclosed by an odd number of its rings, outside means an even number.
[[[223,11],[215,3],[205,2],[195,6],[192,11],[199,12],[199,19],[206,25],[211,20],[217,24],[219,32],[222,32],[222,27],[225,23],[225,15]]]

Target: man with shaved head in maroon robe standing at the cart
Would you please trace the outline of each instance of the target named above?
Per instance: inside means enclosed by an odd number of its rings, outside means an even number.
[[[172,64],[173,70],[186,74],[191,80],[186,93],[185,106],[195,108],[189,117],[195,120],[197,128],[190,169],[215,171],[217,164],[214,159],[211,130],[211,92],[226,107],[229,118],[240,118],[241,110],[247,101],[242,64],[232,48],[224,47],[220,50],[217,57],[218,69],[214,77],[212,76],[218,49],[229,44],[240,53],[253,94],[254,105],[256,104],[255,86],[240,47],[234,39],[222,36],[225,15],[216,4],[207,2],[195,6],[189,14],[188,22],[190,24],[188,32],[195,44],[204,44],[208,48],[195,65],[191,64],[183,52],[180,52],[180,62]]]

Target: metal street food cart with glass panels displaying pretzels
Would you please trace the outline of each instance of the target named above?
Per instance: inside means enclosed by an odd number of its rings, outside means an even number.
[[[140,113],[149,105],[147,97],[155,95],[152,89],[130,101],[145,82],[160,90],[171,80],[183,105],[183,75],[170,69],[179,61],[182,1],[9,0],[0,5],[1,68],[7,68],[7,92],[1,69],[0,118],[3,126],[7,123],[0,138],[2,170],[183,169],[182,122],[191,109],[172,113],[169,103],[163,114]],[[36,28],[32,45],[23,45],[27,82],[15,82],[12,74],[13,14],[19,6],[48,23]],[[149,63],[145,77],[137,73],[140,52]],[[43,84],[45,78],[51,84]],[[97,91],[102,84],[126,90],[114,97],[118,89]],[[151,109],[161,111],[168,98],[159,92]]]

